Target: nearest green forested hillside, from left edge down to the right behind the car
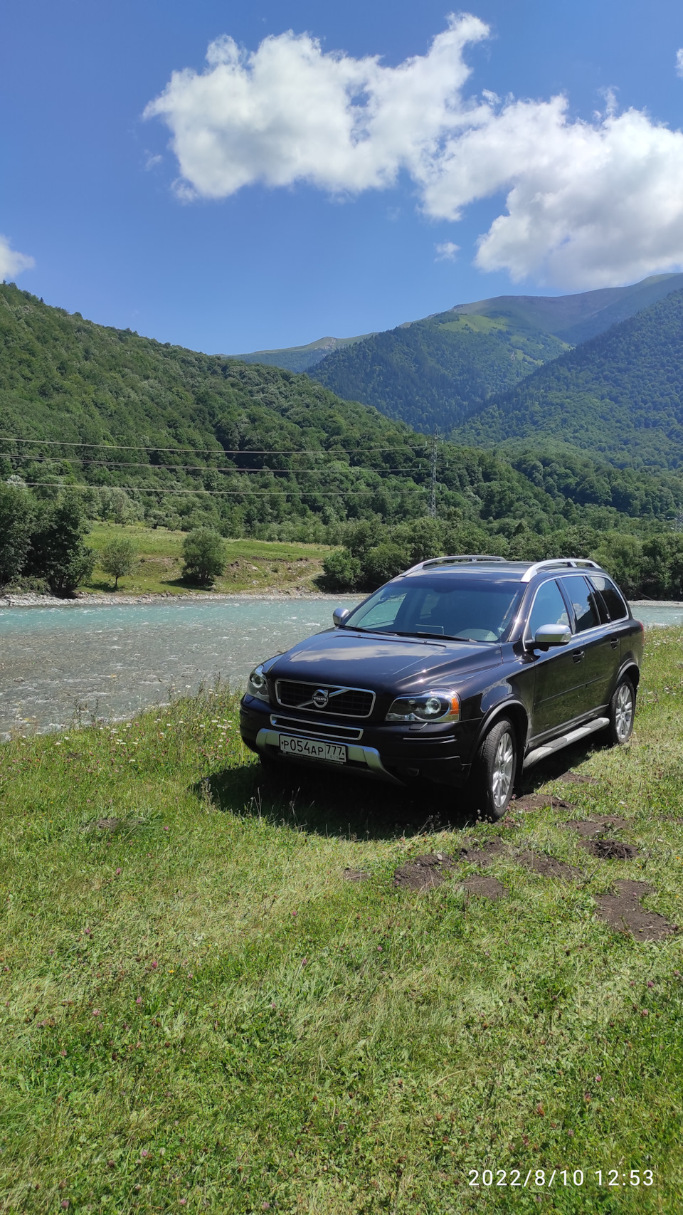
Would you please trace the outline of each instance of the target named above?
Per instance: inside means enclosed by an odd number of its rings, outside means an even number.
[[[91,518],[334,541],[348,520],[399,524],[429,508],[431,443],[403,423],[306,375],[97,326],[11,284],[0,287],[0,480],[43,498],[73,485]],[[440,518],[501,537],[642,531],[668,526],[683,503],[671,474],[571,453],[514,459],[439,443]]]

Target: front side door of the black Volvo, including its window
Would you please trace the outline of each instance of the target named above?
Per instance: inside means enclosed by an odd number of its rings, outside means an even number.
[[[536,635],[541,625],[569,625],[568,604],[557,581],[543,582],[534,598],[527,617],[525,642]],[[580,713],[583,695],[583,646],[572,637],[568,645],[534,650],[534,716],[531,735],[558,734]]]

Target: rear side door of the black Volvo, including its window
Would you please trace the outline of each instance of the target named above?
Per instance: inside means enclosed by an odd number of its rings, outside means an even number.
[[[606,618],[605,605],[583,575],[560,578],[574,614],[574,631],[583,648],[583,691],[578,713],[594,713],[608,702],[609,688],[619,661],[619,639]]]

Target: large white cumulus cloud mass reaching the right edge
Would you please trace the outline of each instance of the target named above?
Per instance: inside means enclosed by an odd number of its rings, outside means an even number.
[[[613,94],[591,122],[571,118],[564,96],[467,96],[464,52],[487,34],[476,17],[450,17],[425,55],[396,67],[323,52],[309,34],[253,52],[226,36],[204,72],[175,72],[145,113],[171,130],[187,199],[297,181],[356,194],[405,173],[439,220],[503,194],[475,260],[514,281],[602,287],[683,267],[683,134],[619,113]]]

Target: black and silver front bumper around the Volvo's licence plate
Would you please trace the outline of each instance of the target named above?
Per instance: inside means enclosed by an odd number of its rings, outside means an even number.
[[[255,697],[244,697],[239,712],[239,730],[245,746],[282,763],[312,765],[328,772],[334,769],[399,785],[428,780],[459,789],[467,784],[470,765],[463,762],[461,753],[463,739],[457,739],[452,728],[444,733],[411,736],[402,724],[363,723],[362,728],[354,729],[355,724],[349,724],[348,734],[344,735],[339,722],[311,722],[307,718],[298,719],[293,714],[288,714],[283,722],[281,713]],[[342,744],[346,748],[346,763],[283,755],[280,750],[281,734]]]

